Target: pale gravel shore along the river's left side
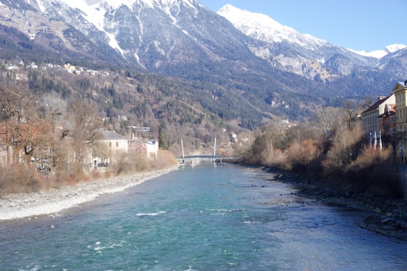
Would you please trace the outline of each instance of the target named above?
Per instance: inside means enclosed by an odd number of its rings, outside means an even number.
[[[173,166],[150,172],[81,182],[74,186],[46,191],[2,196],[0,197],[0,220],[57,213],[93,200],[100,195],[123,191],[177,168],[178,166]]]

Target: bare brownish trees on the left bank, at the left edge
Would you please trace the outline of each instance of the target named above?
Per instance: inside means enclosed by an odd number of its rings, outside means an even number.
[[[89,101],[78,98],[68,104],[57,94],[39,99],[24,84],[0,86],[4,172],[21,164],[31,168],[32,175],[42,171],[55,172],[55,180],[63,175],[65,179],[81,178],[87,168],[86,156],[98,147],[100,127],[100,118]],[[1,181],[4,184],[12,177],[2,176]]]

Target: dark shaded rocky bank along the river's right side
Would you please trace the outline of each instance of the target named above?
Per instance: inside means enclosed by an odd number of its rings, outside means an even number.
[[[352,187],[339,187],[329,180],[308,178],[302,174],[264,167],[264,171],[276,175],[273,180],[295,184],[301,197],[317,199],[324,204],[342,205],[371,212],[360,227],[407,240],[407,201],[385,198],[370,192],[358,193]]]

